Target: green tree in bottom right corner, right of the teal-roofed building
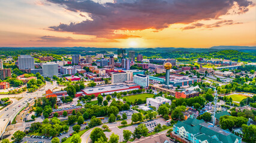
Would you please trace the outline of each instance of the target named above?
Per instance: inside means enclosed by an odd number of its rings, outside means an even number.
[[[243,128],[243,139],[248,142],[256,142],[256,125],[242,125]]]

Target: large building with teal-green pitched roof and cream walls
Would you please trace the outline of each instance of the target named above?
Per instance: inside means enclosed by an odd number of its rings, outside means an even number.
[[[183,140],[192,143],[241,143],[242,138],[234,135],[229,130],[223,130],[204,120],[188,119],[177,122],[173,132]]]

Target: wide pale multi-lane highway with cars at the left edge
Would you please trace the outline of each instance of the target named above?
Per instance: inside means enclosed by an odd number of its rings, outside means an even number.
[[[27,102],[28,103],[34,102],[35,100],[34,97],[35,98],[41,97],[43,94],[45,94],[46,90],[53,89],[55,88],[56,85],[57,85],[56,82],[53,82],[53,84],[50,82],[46,82],[46,86],[44,86],[42,89],[33,93],[25,92],[19,95],[0,95],[0,98],[9,97],[10,100],[13,101],[11,105],[8,105],[4,109],[0,110],[0,122],[1,122],[0,137],[3,135],[8,124],[13,121],[14,117],[19,113],[19,111],[22,110],[23,107],[26,107]],[[23,97],[23,98],[21,100],[17,100],[16,98],[11,98],[11,97]],[[29,98],[31,98],[31,100],[29,100]]]

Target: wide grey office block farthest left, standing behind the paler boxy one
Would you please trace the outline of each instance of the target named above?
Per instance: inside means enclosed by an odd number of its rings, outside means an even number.
[[[34,57],[31,55],[20,55],[18,64],[20,70],[35,69]]]

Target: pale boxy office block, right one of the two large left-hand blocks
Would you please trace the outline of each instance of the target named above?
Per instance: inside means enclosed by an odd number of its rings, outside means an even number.
[[[58,76],[58,64],[57,63],[50,63],[47,62],[45,64],[42,64],[43,67],[43,76],[44,77],[53,77]]]

